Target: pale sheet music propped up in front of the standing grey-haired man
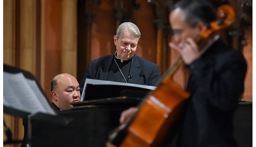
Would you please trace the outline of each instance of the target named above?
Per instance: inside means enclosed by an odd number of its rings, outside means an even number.
[[[121,86],[131,86],[131,87],[140,87],[144,89],[150,89],[155,90],[157,87],[155,86],[148,86],[148,85],[139,85],[139,84],[132,84],[132,83],[122,83],[122,82],[114,82],[109,80],[98,80],[98,79],[85,79],[84,82],[84,88],[82,91],[80,102],[83,102],[84,95],[85,95],[85,89],[87,84],[93,84],[93,85],[121,85]]]

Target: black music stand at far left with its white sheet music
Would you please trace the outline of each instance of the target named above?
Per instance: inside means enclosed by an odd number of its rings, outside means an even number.
[[[23,141],[26,141],[28,138],[27,133],[29,133],[27,132],[29,115],[38,112],[56,115],[56,112],[52,109],[50,101],[41,85],[30,72],[6,64],[4,64],[3,69],[3,111],[6,114],[23,119]],[[12,139],[12,133],[5,121],[4,127],[7,135],[7,140],[4,141],[4,145],[23,142],[22,140]]]

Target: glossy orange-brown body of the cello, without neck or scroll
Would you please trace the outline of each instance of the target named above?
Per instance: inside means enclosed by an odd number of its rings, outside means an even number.
[[[163,81],[142,103],[121,147],[159,147],[176,125],[188,92],[171,78]]]

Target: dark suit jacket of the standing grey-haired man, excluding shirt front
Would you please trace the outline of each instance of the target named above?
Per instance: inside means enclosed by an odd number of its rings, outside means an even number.
[[[114,54],[90,61],[85,71],[82,82],[80,83],[80,91],[83,91],[83,86],[86,78],[107,80],[107,75],[113,59]],[[133,77],[129,79],[129,83],[158,86],[158,84],[161,82],[159,66],[140,56],[133,55],[130,71],[132,71]]]

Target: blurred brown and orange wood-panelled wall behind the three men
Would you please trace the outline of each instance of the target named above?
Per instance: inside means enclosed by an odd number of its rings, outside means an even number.
[[[51,101],[51,80],[70,73],[80,83],[90,60],[113,54],[113,36],[125,21],[141,31],[136,54],[159,65],[161,74],[179,56],[168,47],[172,31],[168,7],[178,0],[4,0],[4,64],[31,72]],[[209,0],[217,9],[229,4],[236,20],[221,32],[247,61],[242,100],[252,102],[252,0]],[[187,71],[175,82],[185,87]],[[14,139],[23,139],[22,120],[4,114]],[[6,139],[4,133],[4,140]],[[19,146],[19,145],[6,145]]]

